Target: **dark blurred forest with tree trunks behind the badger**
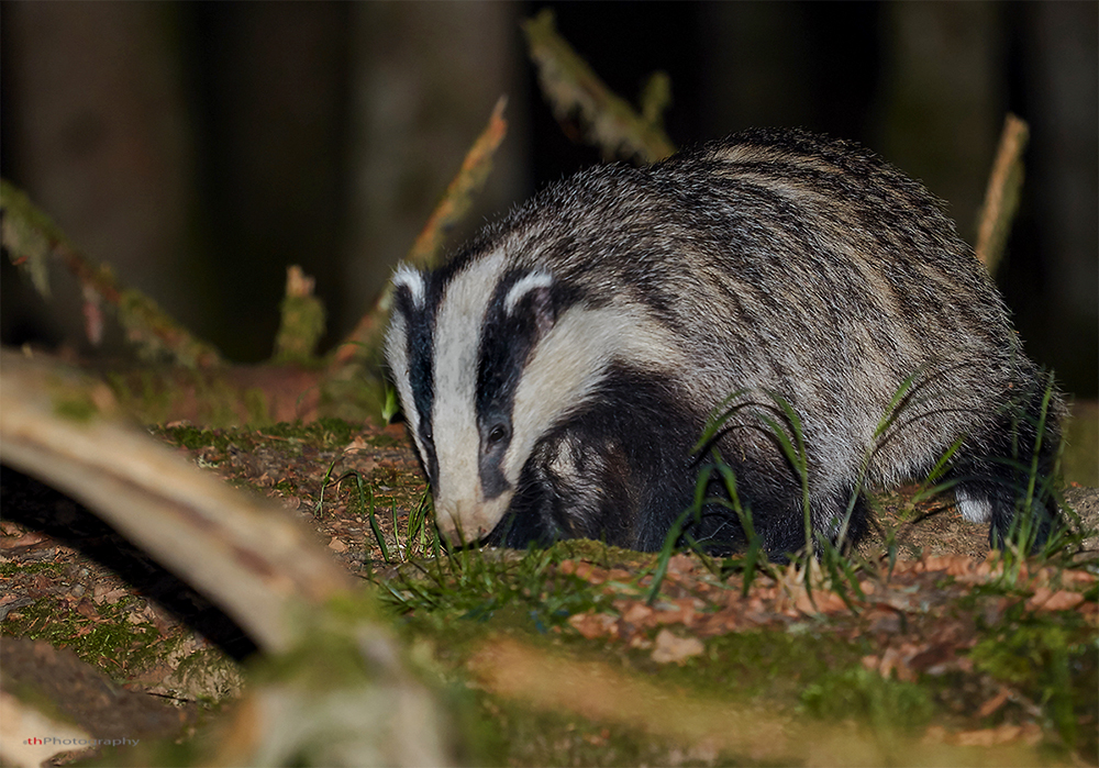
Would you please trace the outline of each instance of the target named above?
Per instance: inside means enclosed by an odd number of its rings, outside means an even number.
[[[456,236],[601,159],[526,62],[519,23],[544,4],[2,2],[0,170],[232,359],[270,354],[290,264],[317,277],[332,344],[501,93],[509,136]],[[1099,4],[550,4],[621,96],[670,75],[677,144],[753,125],[854,138],[948,201],[970,242],[1004,113],[1029,121],[997,280],[1032,356],[1096,396]],[[54,277],[47,305],[4,260],[2,341],[88,354]]]

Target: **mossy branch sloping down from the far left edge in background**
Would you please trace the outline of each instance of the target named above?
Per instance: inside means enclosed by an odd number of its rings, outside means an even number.
[[[188,367],[221,363],[218,350],[191,335],[148,297],[119,282],[106,264],[97,264],[74,247],[60,230],[14,185],[0,180],[0,237],[12,264],[27,272],[35,288],[49,296],[48,259],[56,257],[79,281],[85,297],[86,332],[98,344],[100,305],[114,308],[126,338],[143,355],[167,353]]]

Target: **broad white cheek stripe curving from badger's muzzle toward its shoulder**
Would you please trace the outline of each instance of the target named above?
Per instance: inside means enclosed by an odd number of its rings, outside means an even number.
[[[515,389],[512,437],[503,460],[514,482],[545,430],[587,400],[615,359],[667,370],[686,365],[679,345],[635,308],[565,312],[534,348]]]

